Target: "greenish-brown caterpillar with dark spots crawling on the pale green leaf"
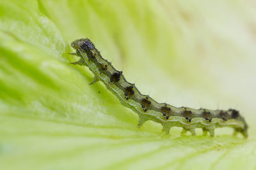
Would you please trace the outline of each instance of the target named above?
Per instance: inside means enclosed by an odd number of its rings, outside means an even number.
[[[81,57],[78,64],[87,66],[94,74],[94,79],[90,85],[97,81],[102,81],[106,88],[111,91],[122,105],[130,108],[138,114],[140,128],[147,120],[152,120],[163,125],[163,131],[169,134],[170,128],[182,127],[181,133],[191,132],[195,135],[195,128],[202,128],[203,134],[214,136],[216,127],[232,127],[234,134],[241,133],[244,138],[248,137],[248,125],[239,111],[229,110],[208,110],[200,108],[180,107],[176,108],[170,104],[157,103],[151,97],[143,95],[133,83],[129,83],[122,71],[117,71],[111,65],[111,62],[102,58],[100,52],[95,48],[90,39],[77,39],[71,43],[72,48],[76,50],[71,55]]]

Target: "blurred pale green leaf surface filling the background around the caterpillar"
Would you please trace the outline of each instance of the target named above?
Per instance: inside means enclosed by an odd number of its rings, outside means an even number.
[[[255,169],[255,1],[1,1],[1,169]],[[159,103],[234,108],[249,138],[160,138],[70,43],[90,38]],[[15,161],[15,164],[13,162]],[[207,164],[205,164],[207,162]]]

